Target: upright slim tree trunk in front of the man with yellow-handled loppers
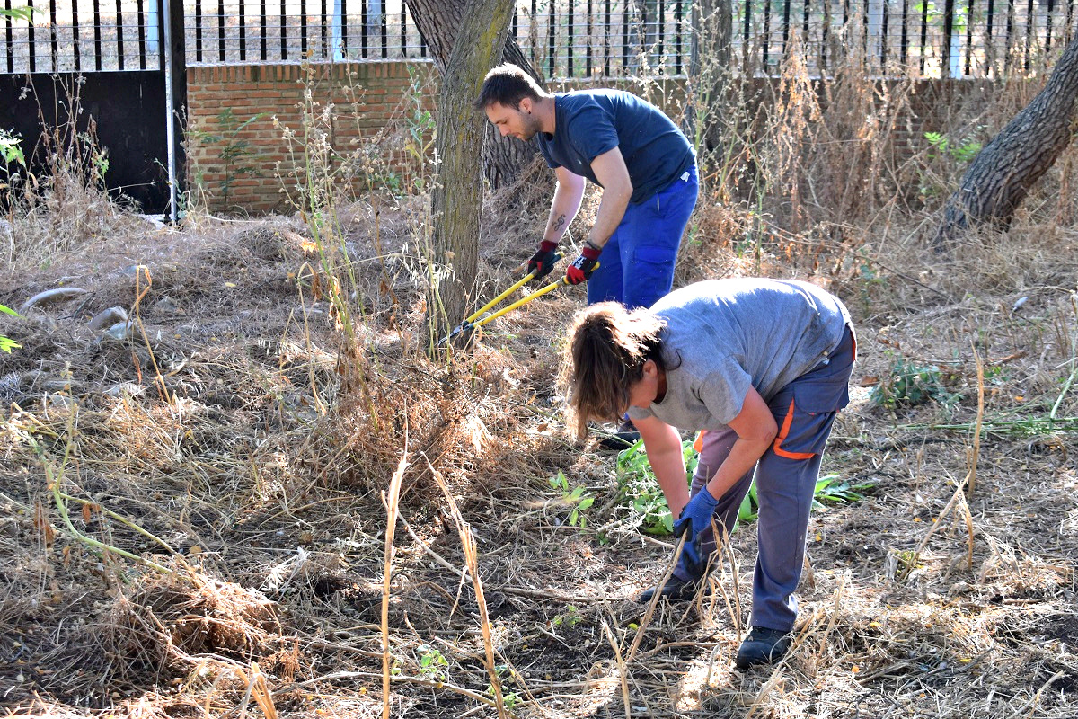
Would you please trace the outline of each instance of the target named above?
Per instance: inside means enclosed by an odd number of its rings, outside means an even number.
[[[483,77],[500,58],[515,0],[469,0],[442,75],[438,103],[438,182],[431,192],[433,254],[438,268],[452,267],[432,282],[428,327],[447,334],[465,317],[468,290],[479,265],[479,221],[483,207],[480,153],[485,117],[472,109]],[[442,273],[437,273],[442,275]]]

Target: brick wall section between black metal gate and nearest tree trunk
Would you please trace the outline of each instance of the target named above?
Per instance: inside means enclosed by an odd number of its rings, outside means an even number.
[[[188,186],[211,211],[288,211],[289,195],[281,190],[302,181],[292,174],[303,174],[305,107],[315,108],[307,116],[317,117],[334,169],[354,163],[343,171],[357,190],[367,181],[364,171],[406,172],[403,141],[393,134],[404,132],[405,115],[415,112],[413,86],[432,109],[433,73],[429,63],[400,61],[190,68]],[[333,109],[323,114],[328,103]],[[222,120],[222,112],[231,116]]]

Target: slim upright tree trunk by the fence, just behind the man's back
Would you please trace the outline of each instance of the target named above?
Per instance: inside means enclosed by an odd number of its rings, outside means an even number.
[[[692,5],[689,98],[685,134],[697,151],[719,147],[723,102],[730,82],[733,10],[727,0],[700,0]]]

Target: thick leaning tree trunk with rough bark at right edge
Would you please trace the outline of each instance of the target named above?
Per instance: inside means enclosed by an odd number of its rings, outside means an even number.
[[[1014,210],[1070,142],[1078,97],[1078,39],[1072,40],[1037,97],[970,163],[943,209],[936,249],[962,231],[992,222],[1006,229]]]

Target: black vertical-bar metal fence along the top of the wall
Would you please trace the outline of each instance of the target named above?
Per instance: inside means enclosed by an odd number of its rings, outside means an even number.
[[[182,1],[182,0],[177,0]],[[731,0],[742,72],[798,52],[825,74],[984,78],[1035,71],[1075,32],[1078,0]],[[0,72],[158,68],[163,0],[4,0]],[[189,65],[424,58],[404,0],[186,0]],[[680,75],[692,0],[520,0],[512,33],[549,78]]]

